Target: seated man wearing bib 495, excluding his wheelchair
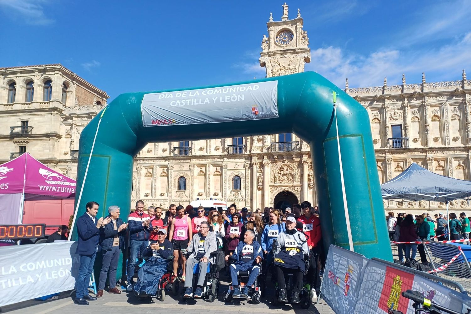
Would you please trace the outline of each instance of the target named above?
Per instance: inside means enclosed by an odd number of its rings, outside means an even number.
[[[231,273],[232,286],[234,287],[234,298],[248,298],[248,287],[252,287],[259,275],[260,266],[258,264],[262,261],[263,253],[259,242],[253,241],[254,238],[255,233],[252,230],[245,231],[244,242],[239,242],[232,256],[226,256],[227,262],[232,261],[229,269]],[[239,271],[250,272],[249,280],[242,289],[242,294],[239,289],[239,283],[237,282],[237,272]]]

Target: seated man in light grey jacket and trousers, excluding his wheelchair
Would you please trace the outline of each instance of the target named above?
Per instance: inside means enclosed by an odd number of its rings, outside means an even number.
[[[201,298],[204,280],[208,271],[208,265],[214,264],[214,256],[211,253],[217,250],[216,235],[209,232],[209,223],[203,221],[200,225],[200,231],[193,236],[188,245],[187,267],[185,277],[184,298],[193,297],[193,270],[196,264],[199,264],[198,282],[196,283],[195,298]]]

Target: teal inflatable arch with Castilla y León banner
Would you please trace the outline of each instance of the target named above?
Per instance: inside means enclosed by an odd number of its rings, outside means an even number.
[[[86,202],[97,201],[102,216],[107,215],[109,206],[118,205],[126,220],[130,213],[133,157],[146,143],[293,132],[310,145],[325,248],[330,244],[348,248],[333,91],[337,94],[354,249],[368,258],[392,260],[368,113],[315,72],[116,97],[103,114],[97,133],[79,215]],[[100,114],[81,133],[78,189],[99,117]],[[77,197],[79,193],[77,190]]]

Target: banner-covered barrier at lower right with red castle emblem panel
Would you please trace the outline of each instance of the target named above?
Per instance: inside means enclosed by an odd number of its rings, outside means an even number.
[[[471,308],[471,298],[459,283],[331,245],[325,264],[321,296],[337,314],[414,313],[413,302],[402,297],[408,289],[458,312]],[[458,291],[457,291],[458,290]]]

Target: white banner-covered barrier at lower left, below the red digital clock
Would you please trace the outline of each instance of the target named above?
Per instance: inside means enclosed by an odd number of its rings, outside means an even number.
[[[80,259],[76,242],[2,247],[0,306],[73,290]]]

